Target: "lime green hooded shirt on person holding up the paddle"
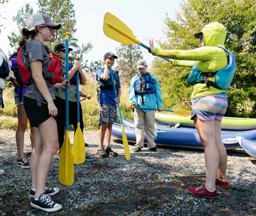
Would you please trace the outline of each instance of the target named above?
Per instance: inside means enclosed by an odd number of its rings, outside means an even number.
[[[172,62],[174,67],[192,67],[194,62],[197,61],[196,67],[204,72],[215,72],[223,69],[228,63],[228,54],[221,48],[224,47],[226,39],[226,28],[218,23],[212,22],[202,29],[204,35],[204,47],[191,49],[191,50],[165,50],[153,49],[154,56],[166,57],[175,59]],[[213,78],[208,78],[212,80]],[[226,92],[225,90],[216,89],[212,86],[209,88],[205,84],[197,83],[192,86],[191,98],[202,97],[206,95],[217,94]]]

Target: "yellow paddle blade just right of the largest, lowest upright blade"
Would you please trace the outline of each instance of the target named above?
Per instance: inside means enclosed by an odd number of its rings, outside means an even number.
[[[85,161],[85,146],[83,133],[80,128],[80,123],[77,123],[77,129],[74,136],[73,142],[73,151],[74,151],[74,163],[82,164]]]

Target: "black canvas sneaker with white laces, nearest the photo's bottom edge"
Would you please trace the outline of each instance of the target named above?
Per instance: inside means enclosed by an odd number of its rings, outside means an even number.
[[[44,212],[56,212],[62,208],[61,204],[54,203],[51,197],[46,194],[41,194],[38,200],[33,198],[30,205]]]

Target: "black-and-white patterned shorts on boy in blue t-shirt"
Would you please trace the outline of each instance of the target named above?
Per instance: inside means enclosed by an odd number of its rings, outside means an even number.
[[[99,122],[116,123],[117,119],[117,105],[116,104],[99,104]]]

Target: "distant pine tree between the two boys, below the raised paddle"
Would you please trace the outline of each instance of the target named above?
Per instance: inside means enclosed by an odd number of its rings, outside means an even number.
[[[136,62],[143,58],[142,51],[137,44],[121,44],[116,51],[118,56],[116,70],[119,71],[119,75],[128,83],[137,73]]]

